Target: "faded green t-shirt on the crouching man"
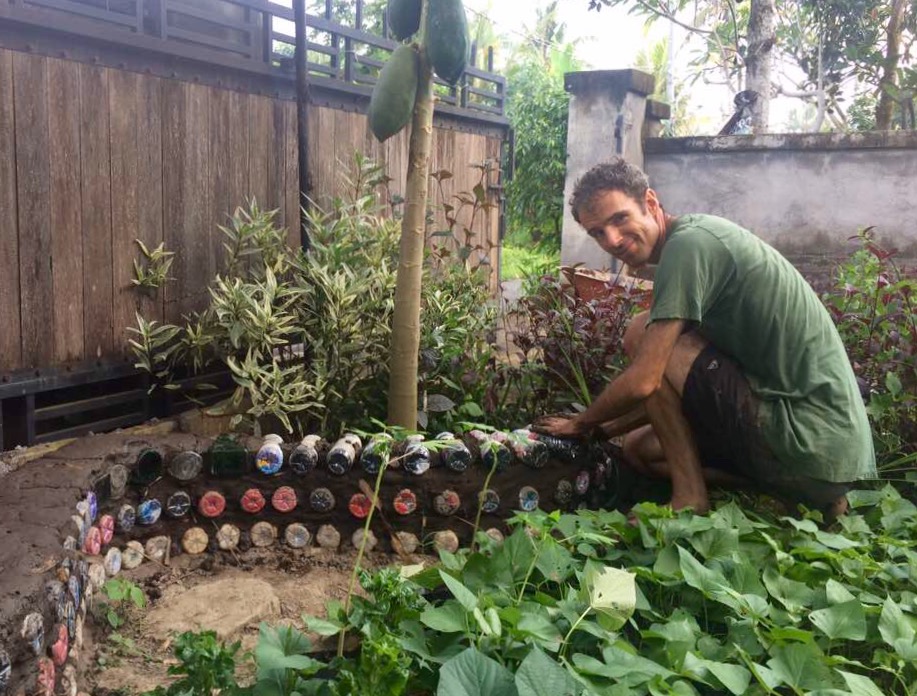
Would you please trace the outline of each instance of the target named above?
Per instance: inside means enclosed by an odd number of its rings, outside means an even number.
[[[668,232],[650,321],[696,322],[732,356],[758,397],[759,426],[789,474],[875,478],[872,434],[831,317],[775,249],[713,215],[683,215]]]

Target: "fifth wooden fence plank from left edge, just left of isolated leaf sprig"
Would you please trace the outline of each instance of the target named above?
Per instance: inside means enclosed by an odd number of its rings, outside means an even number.
[[[111,127],[111,223],[115,351],[128,352],[128,326],[135,326],[143,292],[131,283],[140,238],[140,75],[113,70],[109,75]],[[144,244],[146,242],[144,241]],[[148,319],[151,317],[147,317]]]

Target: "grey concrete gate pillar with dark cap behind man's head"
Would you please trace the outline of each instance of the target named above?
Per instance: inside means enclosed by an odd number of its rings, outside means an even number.
[[[643,167],[646,97],[653,93],[653,86],[652,75],[639,70],[592,70],[564,76],[570,111],[561,264],[616,270],[614,259],[602,253],[573,219],[567,201],[580,176],[616,154]]]

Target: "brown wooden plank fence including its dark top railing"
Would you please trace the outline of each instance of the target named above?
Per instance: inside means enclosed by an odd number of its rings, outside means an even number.
[[[7,381],[123,360],[135,311],[177,321],[203,306],[222,258],[217,225],[250,198],[276,208],[298,243],[291,39],[279,20],[292,10],[260,0],[0,0]],[[383,162],[399,193],[407,138],[376,143],[363,115],[380,53],[395,44],[359,19],[308,20],[315,199],[341,192],[354,150]],[[447,194],[470,191],[472,166],[500,160],[502,78],[471,69],[462,88],[439,91],[432,169],[454,173]],[[486,182],[492,201],[496,176]],[[497,228],[491,213],[476,233],[496,243]],[[131,286],[136,239],[176,252],[176,280],[155,300]]]

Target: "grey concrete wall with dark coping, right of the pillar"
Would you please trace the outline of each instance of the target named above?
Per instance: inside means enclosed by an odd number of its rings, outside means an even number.
[[[870,225],[917,256],[917,133],[650,138],[644,168],[672,214],[722,215],[785,252]]]

